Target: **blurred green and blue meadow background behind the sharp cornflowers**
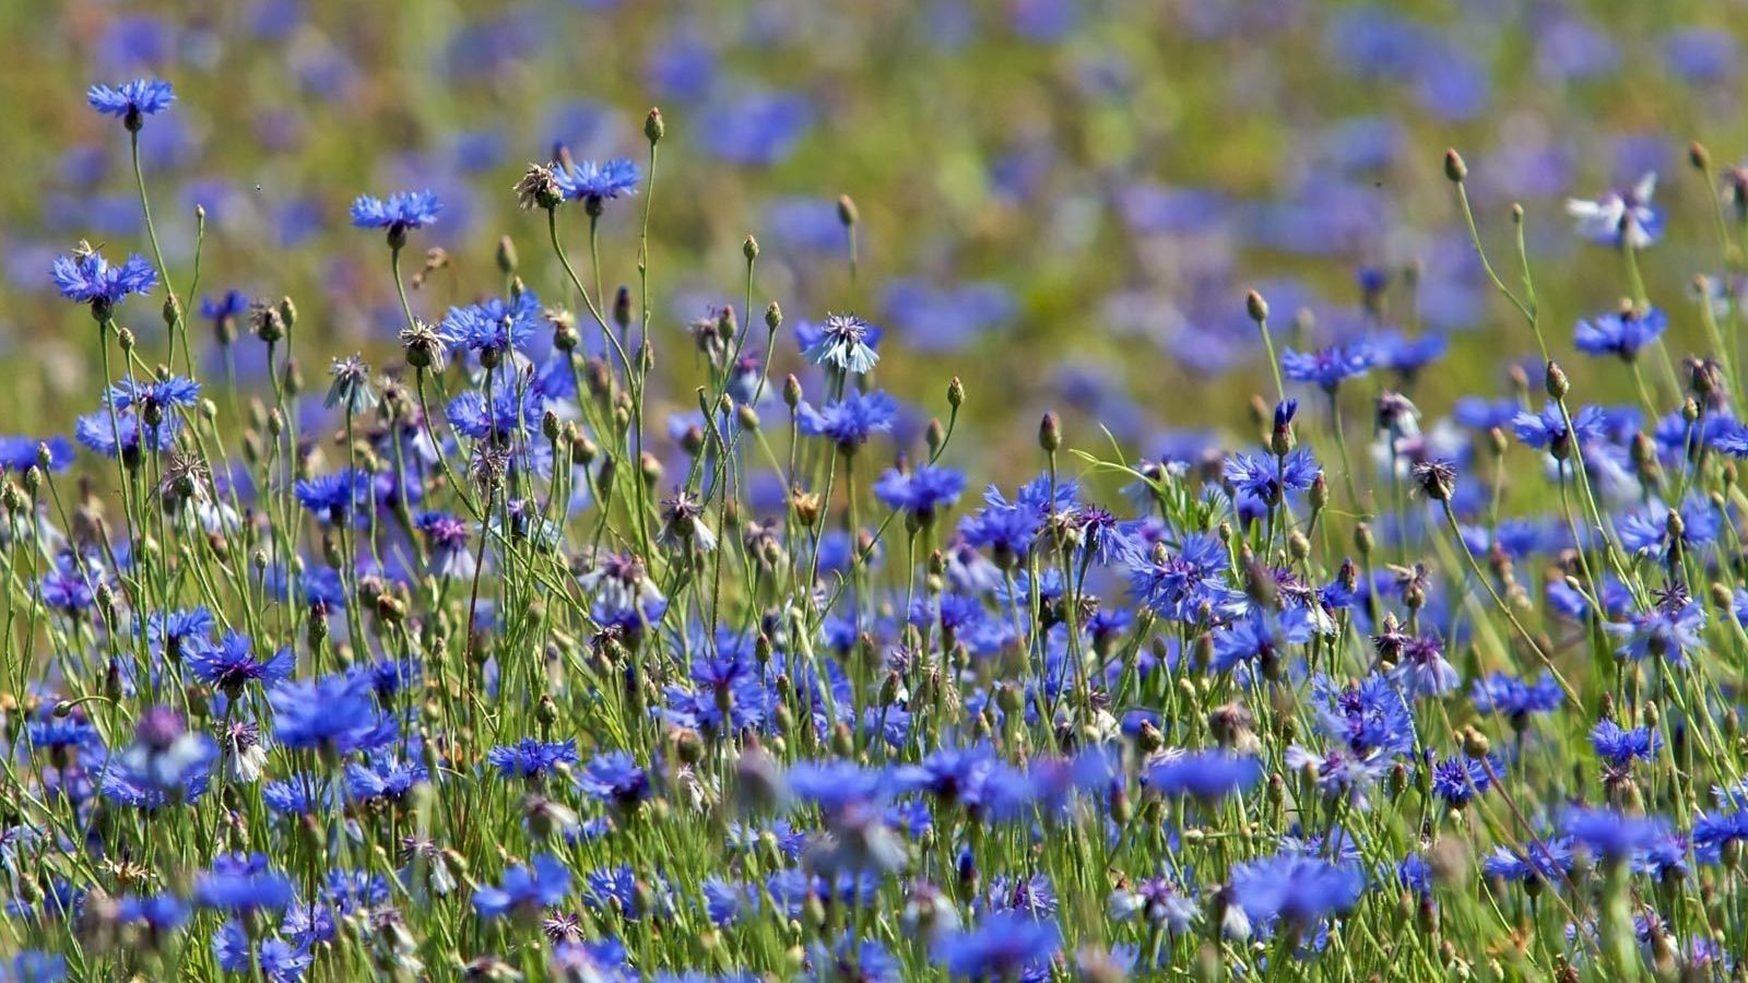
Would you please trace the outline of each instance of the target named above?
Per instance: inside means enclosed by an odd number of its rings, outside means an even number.
[[[1571,322],[1617,303],[1626,280],[1619,254],[1573,236],[1563,199],[1661,173],[1668,240],[1643,266],[1671,315],[1671,353],[1696,348],[1690,280],[1722,273],[1724,259],[1710,215],[1720,187],[1687,166],[1687,143],[1704,142],[1720,171],[1748,150],[1743,12],[1509,0],[9,3],[0,364],[12,385],[0,430],[65,430],[94,406],[91,322],[52,294],[47,269],[80,238],[145,252],[126,135],[84,105],[87,84],[138,75],[180,96],[143,133],[178,289],[199,203],[201,294],[292,296],[311,399],[329,357],[395,357],[385,248],[348,227],[355,194],[444,198],[442,220],[409,250],[409,273],[418,248],[447,254],[414,292],[421,317],[498,289],[503,234],[528,285],[561,299],[544,222],[516,210],[510,185],[556,143],[645,164],[652,105],[668,136],[649,329],[676,394],[657,395],[668,411],[690,409],[685,324],[739,303],[739,243],[755,234],[755,308],[774,299],[792,324],[855,310],[884,325],[879,383],[916,402],[912,437],[944,413],[947,378],[965,376],[974,439],[960,453],[995,472],[1028,460],[1016,451],[1044,409],[1065,413],[1072,443],[1103,443],[1091,425],[1101,420],[1140,453],[1180,444],[1180,429],[1243,427],[1267,378],[1245,317],[1252,287],[1288,345],[1376,327],[1447,334],[1449,357],[1414,392],[1437,416],[1460,392],[1502,392],[1503,366],[1535,352],[1474,262],[1442,175],[1453,145],[1502,259],[1509,205],[1528,210],[1538,294],[1578,395],[1629,399],[1619,366],[1571,353]],[[862,215],[855,296],[839,194]],[[608,208],[610,283],[635,280],[640,213],[642,198]],[[568,222],[580,250],[580,213]],[[1365,269],[1390,282],[1379,313],[1360,306]],[[1292,338],[1301,310],[1309,332]],[[161,345],[156,304],[131,304],[124,322],[149,353]],[[212,357],[212,334],[198,338]],[[799,369],[790,341],[778,352],[778,378]],[[259,357],[245,336],[245,385]]]

